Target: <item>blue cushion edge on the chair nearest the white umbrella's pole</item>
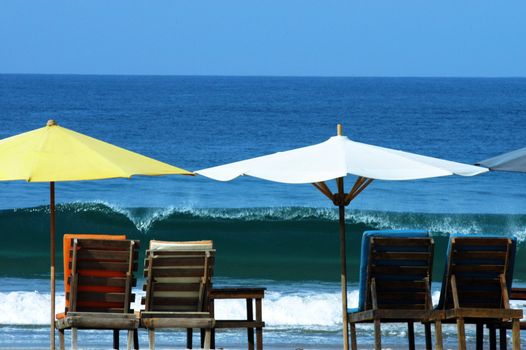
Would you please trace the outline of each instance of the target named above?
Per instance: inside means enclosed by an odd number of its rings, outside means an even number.
[[[358,310],[365,310],[365,302],[367,293],[370,292],[370,286],[367,284],[367,269],[369,265],[369,253],[371,247],[371,239],[374,237],[405,237],[418,238],[429,237],[429,233],[423,230],[370,230],[365,231],[362,236],[362,250],[360,261],[360,286],[359,286],[359,300]]]

